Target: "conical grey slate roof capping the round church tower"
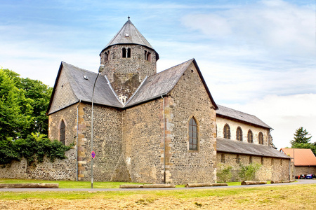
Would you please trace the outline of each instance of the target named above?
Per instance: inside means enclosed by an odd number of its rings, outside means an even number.
[[[106,48],[117,45],[117,44],[136,44],[136,45],[143,45],[147,48],[152,48],[152,45],[146,40],[146,38],[140,34],[140,31],[136,29],[136,27],[133,25],[131,20],[127,20],[127,22],[124,24],[123,27],[119,30],[119,32],[112,38],[112,40],[103,48],[105,50]],[[102,51],[103,51],[102,50]],[[101,52],[102,52],[101,51]],[[154,50],[156,52],[156,50]],[[159,55],[156,52],[157,60],[159,59]]]

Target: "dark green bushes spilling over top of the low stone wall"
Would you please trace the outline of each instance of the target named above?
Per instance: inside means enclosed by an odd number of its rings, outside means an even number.
[[[33,134],[26,139],[0,140],[0,164],[8,164],[13,160],[25,158],[27,164],[43,162],[46,156],[51,162],[55,158],[65,159],[65,152],[69,151],[73,145],[65,146],[60,141],[46,138],[44,134]]]

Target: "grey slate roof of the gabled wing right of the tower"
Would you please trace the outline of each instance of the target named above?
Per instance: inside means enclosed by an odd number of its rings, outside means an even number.
[[[195,68],[199,73],[199,76],[204,84],[206,92],[209,94],[209,98],[213,106],[217,109],[217,105],[211,96],[211,92],[209,92],[209,88],[207,87],[205,80],[202,76],[201,71],[199,70],[199,66],[197,66],[197,62],[195,59],[190,59],[182,64],[178,64],[177,66],[173,66],[169,69],[161,71],[153,76],[148,77],[138,88],[135,94],[131,97],[131,99],[126,103],[125,107],[133,106],[135,104],[140,104],[142,102],[149,101],[151,99],[155,99],[157,97],[161,97],[162,95],[168,94],[173,87],[178,83],[178,80],[183,76],[183,73],[190,64],[195,64]]]

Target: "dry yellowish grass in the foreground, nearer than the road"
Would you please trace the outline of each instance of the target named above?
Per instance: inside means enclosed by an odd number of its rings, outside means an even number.
[[[0,209],[316,209],[315,189],[316,184],[198,190],[0,192]]]

